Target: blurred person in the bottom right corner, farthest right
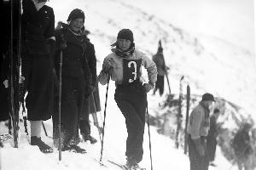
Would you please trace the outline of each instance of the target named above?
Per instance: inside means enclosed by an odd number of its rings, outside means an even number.
[[[239,170],[250,169],[249,156],[253,153],[249,135],[251,128],[252,125],[248,122],[245,122],[241,129],[237,131],[232,142],[232,147],[235,151],[236,162]]]

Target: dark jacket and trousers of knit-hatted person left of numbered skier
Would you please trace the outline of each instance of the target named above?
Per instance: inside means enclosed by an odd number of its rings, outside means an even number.
[[[61,38],[61,36],[63,38]],[[56,53],[55,71],[60,75],[61,42],[67,44],[62,50],[62,91],[61,91],[61,135],[63,147],[79,143],[79,116],[84,102],[84,96],[89,96],[91,73],[85,57],[86,39],[75,35],[67,25],[55,32]],[[58,139],[58,101],[55,100],[54,138]]]

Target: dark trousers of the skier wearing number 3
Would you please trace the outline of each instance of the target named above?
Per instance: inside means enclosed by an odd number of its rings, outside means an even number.
[[[125,116],[128,133],[125,152],[127,161],[136,161],[138,163],[143,159],[143,134],[147,95],[143,90],[142,83],[135,81],[129,83],[129,85],[117,85],[114,99]]]

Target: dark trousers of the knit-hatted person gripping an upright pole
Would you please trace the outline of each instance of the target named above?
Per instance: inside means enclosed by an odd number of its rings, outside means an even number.
[[[84,100],[84,77],[62,77],[61,93],[61,137],[63,147],[79,143],[79,115]],[[58,139],[58,99],[55,100],[53,115],[54,139]]]

